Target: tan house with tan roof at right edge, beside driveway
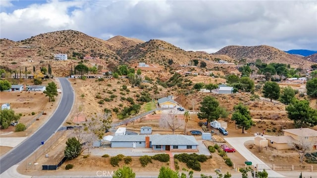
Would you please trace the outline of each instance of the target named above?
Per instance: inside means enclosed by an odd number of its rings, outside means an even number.
[[[316,150],[317,146],[317,130],[311,128],[293,128],[283,129],[283,136],[265,136],[268,146],[277,150],[292,149],[293,143],[300,144],[308,142],[312,145],[312,149]]]

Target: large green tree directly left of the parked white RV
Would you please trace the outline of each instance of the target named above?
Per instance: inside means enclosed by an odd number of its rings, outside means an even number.
[[[197,114],[199,119],[207,119],[208,123],[219,119],[219,102],[215,98],[206,96],[200,104],[200,113]]]

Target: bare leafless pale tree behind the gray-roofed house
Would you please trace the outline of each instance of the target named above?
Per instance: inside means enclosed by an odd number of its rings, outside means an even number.
[[[181,120],[177,118],[175,111],[170,111],[168,114],[161,115],[159,125],[160,127],[171,129],[174,135],[175,130],[177,130],[183,124]]]

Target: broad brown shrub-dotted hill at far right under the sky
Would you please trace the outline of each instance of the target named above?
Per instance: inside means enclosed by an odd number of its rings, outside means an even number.
[[[303,66],[308,68],[312,62],[290,55],[274,47],[261,46],[227,46],[214,53],[216,55],[227,55],[233,59],[247,59],[248,62],[261,59],[263,62],[287,63],[293,67]]]

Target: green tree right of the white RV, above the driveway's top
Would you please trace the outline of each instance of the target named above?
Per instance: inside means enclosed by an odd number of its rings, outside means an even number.
[[[248,130],[253,125],[252,118],[250,116],[250,111],[247,106],[239,103],[233,107],[234,113],[232,114],[232,120],[235,120],[237,125],[242,126],[242,133],[244,130]]]

